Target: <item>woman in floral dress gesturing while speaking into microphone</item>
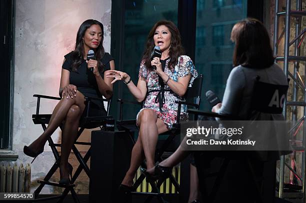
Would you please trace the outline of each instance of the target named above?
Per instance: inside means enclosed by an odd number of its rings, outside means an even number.
[[[154,57],[151,61],[150,55],[156,45],[162,52],[161,58]],[[152,68],[153,65],[156,69]],[[148,34],[137,86],[125,72],[111,70],[107,76],[115,78],[112,82],[123,80],[137,101],[145,99],[143,108],[136,116],[139,136],[132,149],[130,167],[120,185],[121,190],[128,191],[131,190],[134,175],[144,157],[147,168],[154,166],[158,134],[167,131],[176,121],[175,101],[182,99],[187,87],[197,77],[197,72],[190,57],[183,55],[175,24],[161,20],[155,23]],[[187,107],[182,105],[181,109],[180,118],[186,120]]]

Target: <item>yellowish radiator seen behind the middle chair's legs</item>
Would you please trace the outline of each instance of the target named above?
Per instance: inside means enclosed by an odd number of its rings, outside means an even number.
[[[140,169],[138,168],[137,173],[134,177],[134,182],[136,180],[136,178],[138,178],[141,174]],[[174,178],[177,180],[177,182],[180,182],[180,165],[176,165],[173,167],[172,169],[172,175],[174,176]],[[138,192],[150,192],[152,190],[151,185],[144,180],[142,181],[142,183],[137,187],[136,191]],[[159,191],[161,193],[176,193],[176,189],[174,188],[174,185],[170,182],[170,179],[167,178],[163,181],[163,183],[160,185],[159,187]]]

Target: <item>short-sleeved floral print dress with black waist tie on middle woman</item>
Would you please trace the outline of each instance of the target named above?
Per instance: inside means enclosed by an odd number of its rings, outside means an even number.
[[[172,80],[177,81],[178,77],[184,77],[186,75],[191,75],[189,81],[189,87],[192,85],[194,78],[197,77],[197,71],[193,65],[192,60],[187,55],[178,56],[178,63],[175,65],[174,69],[168,68],[168,62],[170,58],[166,59],[164,72]],[[172,124],[176,122],[177,118],[177,108],[178,104],[175,101],[184,100],[182,97],[178,96],[176,93],[171,91],[167,84],[164,84],[164,95],[163,102],[158,101],[156,97],[160,97],[160,85],[158,83],[158,74],[154,70],[149,70],[144,65],[144,60],[140,63],[139,77],[143,77],[146,81],[147,86],[147,96],[145,98],[143,108],[151,108],[157,114],[157,117],[163,120],[167,128],[171,128]],[[140,109],[141,111],[142,109]],[[139,111],[139,112],[140,112]],[[187,106],[181,106],[180,120],[187,120]]]

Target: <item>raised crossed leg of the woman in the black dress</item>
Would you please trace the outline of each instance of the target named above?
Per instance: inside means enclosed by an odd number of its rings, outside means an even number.
[[[76,91],[76,97],[70,98],[62,98],[57,105],[55,106],[50,121],[46,130],[36,139],[34,140],[28,147],[31,148],[34,152],[39,151],[47,141],[47,139],[51,136],[54,130],[60,125],[60,123],[65,119],[68,110],[70,107],[75,104],[78,105],[81,109],[84,109],[84,95]]]

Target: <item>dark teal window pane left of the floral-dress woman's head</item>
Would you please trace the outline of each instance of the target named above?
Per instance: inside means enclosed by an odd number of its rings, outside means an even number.
[[[124,24],[124,53],[122,71],[127,72],[134,83],[138,80],[140,60],[144,51],[147,34],[161,19],[171,20],[177,25],[178,0],[126,0]],[[123,98],[134,100],[126,85]],[[135,119],[140,106],[123,107],[123,119]]]

